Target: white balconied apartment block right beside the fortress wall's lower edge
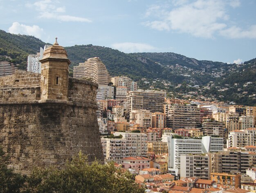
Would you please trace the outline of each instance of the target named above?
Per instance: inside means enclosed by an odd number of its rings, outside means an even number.
[[[121,163],[121,158],[147,156],[147,135],[143,133],[114,132],[122,138],[101,138],[106,161]]]

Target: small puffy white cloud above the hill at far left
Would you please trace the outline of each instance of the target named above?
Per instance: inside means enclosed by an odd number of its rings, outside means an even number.
[[[12,26],[9,27],[8,31],[9,33],[14,34],[33,35],[38,38],[41,38],[44,34],[43,29],[39,26],[27,26],[18,22],[13,22]]]

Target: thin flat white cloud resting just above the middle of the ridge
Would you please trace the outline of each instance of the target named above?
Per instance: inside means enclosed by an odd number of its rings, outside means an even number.
[[[132,43],[132,42],[112,44],[112,48],[120,50],[124,53],[149,52],[156,49],[154,46],[151,46],[149,44]]]

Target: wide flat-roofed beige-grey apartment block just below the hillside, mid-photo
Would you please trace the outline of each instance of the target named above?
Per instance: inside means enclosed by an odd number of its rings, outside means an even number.
[[[145,109],[151,112],[164,112],[166,92],[157,90],[129,91],[127,95],[127,112]]]

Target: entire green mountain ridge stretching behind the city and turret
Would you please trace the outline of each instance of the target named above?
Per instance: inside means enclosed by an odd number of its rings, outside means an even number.
[[[61,45],[61,40],[59,43]],[[0,61],[20,64],[19,68],[26,70],[27,56],[36,54],[45,44],[47,43],[33,36],[14,35],[0,30]],[[177,96],[181,97],[188,95],[189,92],[190,94],[198,92],[197,95],[223,101],[256,105],[256,58],[237,65],[200,61],[176,53],[126,54],[92,44],[69,46],[65,49],[72,62],[71,72],[73,66],[79,65],[88,58],[99,57],[111,76],[130,77],[138,81],[140,88],[149,89],[150,86],[154,86],[155,89],[164,89],[170,94],[179,93],[180,95]],[[141,78],[146,78],[149,83],[145,83]],[[248,82],[252,83],[248,84]],[[177,87],[178,84],[182,86]],[[200,89],[192,89],[193,85],[199,85]],[[205,90],[204,87],[207,89]]]

